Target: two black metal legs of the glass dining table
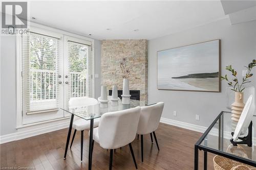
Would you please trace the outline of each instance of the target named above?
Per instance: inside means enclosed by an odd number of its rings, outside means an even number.
[[[97,117],[95,117],[97,118]],[[69,148],[69,140],[71,136],[71,131],[72,131],[72,125],[73,125],[73,120],[74,120],[74,114],[71,114],[70,118],[70,124],[69,124],[69,131],[68,131],[68,136],[67,136],[67,142],[66,142],[66,148],[65,148],[65,154],[64,154],[64,159],[66,159],[68,148]],[[89,155],[88,155],[88,169],[92,169],[92,143],[93,143],[93,124],[94,124],[94,118],[90,119],[90,137],[89,137]]]

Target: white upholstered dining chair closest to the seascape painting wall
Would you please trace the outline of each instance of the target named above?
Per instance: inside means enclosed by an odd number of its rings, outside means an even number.
[[[157,137],[155,131],[160,123],[160,118],[163,112],[163,102],[159,102],[150,106],[142,106],[140,110],[140,119],[138,125],[138,138],[141,136],[141,161],[143,162],[143,135],[150,134],[151,142],[153,143],[152,133],[157,144],[157,149],[159,151],[159,145],[157,142]]]

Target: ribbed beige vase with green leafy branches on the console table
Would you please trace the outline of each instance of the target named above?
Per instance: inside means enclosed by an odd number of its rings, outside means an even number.
[[[231,87],[231,90],[235,92],[234,97],[234,103],[231,104],[231,112],[232,112],[232,120],[238,122],[240,115],[244,108],[244,93],[243,90],[245,89],[245,84],[250,83],[249,78],[253,76],[251,73],[252,68],[256,66],[256,60],[252,60],[251,63],[248,64],[248,66],[245,66],[247,68],[247,73],[245,77],[243,77],[242,81],[238,80],[237,77],[237,71],[232,68],[231,65],[226,66],[226,70],[231,72],[231,75],[233,76],[233,79],[229,79],[227,75],[221,76],[221,80],[227,81],[227,84]],[[242,82],[242,83],[240,83]]]

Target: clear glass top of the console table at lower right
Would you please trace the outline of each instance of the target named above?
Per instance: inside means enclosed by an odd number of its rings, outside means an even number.
[[[231,117],[230,112],[223,112],[215,125],[200,142],[199,147],[207,147],[221,153],[231,154],[251,161],[256,161],[256,146],[255,141],[253,141],[255,136],[254,129],[252,128],[252,147],[248,147],[247,144],[238,144],[237,146],[233,146],[230,142],[230,139],[232,138],[231,132],[234,132],[237,123],[231,120]],[[245,136],[246,135],[247,133]]]

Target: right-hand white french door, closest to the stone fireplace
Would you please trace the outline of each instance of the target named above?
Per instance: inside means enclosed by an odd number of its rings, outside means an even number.
[[[70,98],[92,97],[92,43],[87,40],[64,36],[64,107]],[[65,112],[65,117],[70,114]]]

